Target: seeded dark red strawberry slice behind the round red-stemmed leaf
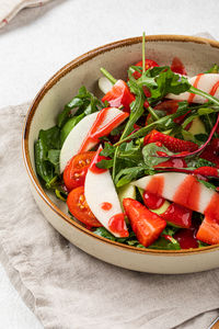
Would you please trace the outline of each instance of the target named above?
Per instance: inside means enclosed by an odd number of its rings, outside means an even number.
[[[189,140],[182,140],[165,134],[162,134],[155,129],[150,132],[145,139],[143,145],[150,143],[161,141],[170,151],[172,152],[182,152],[182,151],[195,151],[198,149],[198,145],[189,141]]]

